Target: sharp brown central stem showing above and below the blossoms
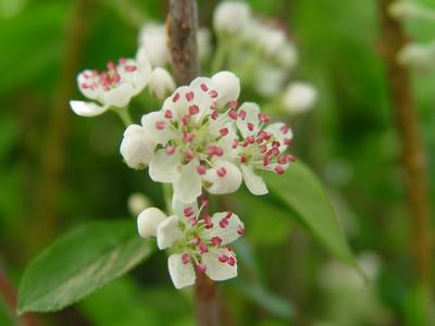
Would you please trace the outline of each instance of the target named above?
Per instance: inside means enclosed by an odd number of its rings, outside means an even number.
[[[197,49],[197,3],[195,0],[171,0],[166,20],[172,68],[178,86],[189,84],[199,74]],[[202,197],[204,199],[206,197]],[[208,214],[202,210],[201,217]],[[195,286],[197,321],[200,326],[219,326],[220,305],[214,281],[197,273]]]

